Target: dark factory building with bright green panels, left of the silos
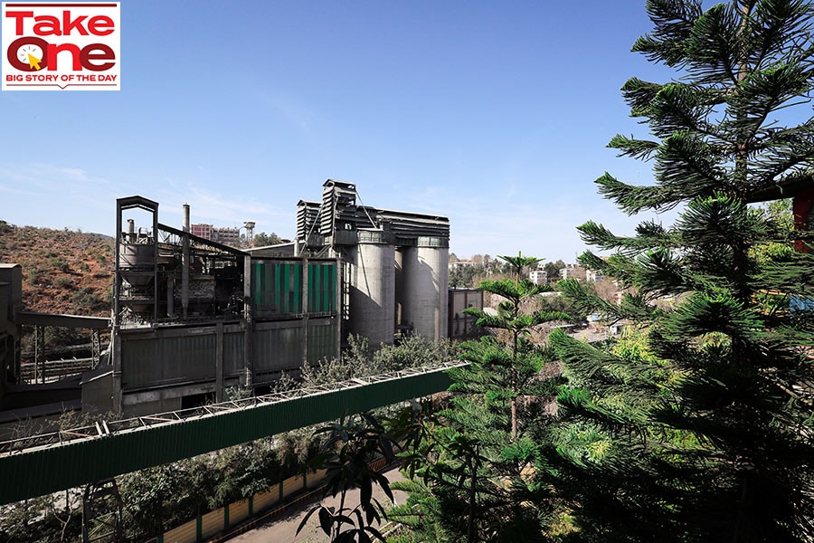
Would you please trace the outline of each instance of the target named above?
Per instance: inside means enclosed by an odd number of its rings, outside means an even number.
[[[338,357],[336,258],[254,256],[194,235],[189,215],[178,229],[158,222],[156,202],[117,200],[111,360],[83,386],[84,405],[182,409]]]

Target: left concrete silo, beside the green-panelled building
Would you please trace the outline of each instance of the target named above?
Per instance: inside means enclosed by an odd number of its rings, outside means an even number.
[[[348,331],[364,336],[371,347],[393,343],[395,329],[395,247],[382,230],[360,230],[348,248],[347,278],[351,318]]]

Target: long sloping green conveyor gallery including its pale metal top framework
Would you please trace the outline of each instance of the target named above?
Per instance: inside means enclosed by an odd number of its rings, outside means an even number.
[[[0,443],[0,505],[446,390],[454,362]]]

